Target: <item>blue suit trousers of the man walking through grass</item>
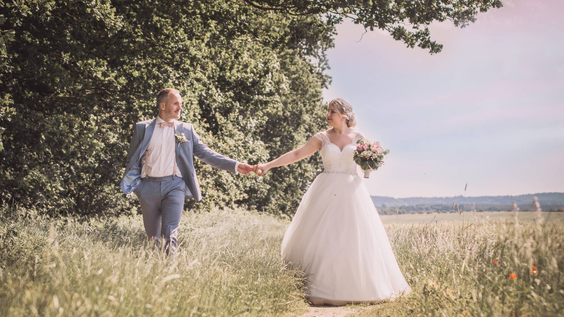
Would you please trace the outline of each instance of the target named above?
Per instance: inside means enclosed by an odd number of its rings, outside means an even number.
[[[176,175],[146,177],[134,192],[141,203],[147,237],[156,241],[164,237],[166,254],[174,252],[184,209],[184,180]]]

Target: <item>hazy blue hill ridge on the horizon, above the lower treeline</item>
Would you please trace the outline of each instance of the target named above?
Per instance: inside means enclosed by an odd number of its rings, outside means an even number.
[[[401,207],[401,206],[416,206],[416,205],[450,205],[456,201],[460,206],[462,202],[466,202],[466,209],[475,203],[479,205],[499,205],[509,206],[514,201],[518,205],[530,206],[533,197],[538,197],[541,205],[564,206],[564,193],[562,192],[547,192],[547,193],[532,193],[517,196],[463,196],[454,197],[408,197],[408,198],[394,198],[386,196],[371,196],[374,205],[377,207],[385,205],[386,208]]]

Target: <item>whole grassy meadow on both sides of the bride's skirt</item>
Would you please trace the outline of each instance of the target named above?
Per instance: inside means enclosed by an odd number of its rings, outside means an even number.
[[[561,316],[564,226],[554,215],[545,222],[544,213],[531,214],[537,218],[515,222],[514,213],[466,213],[464,226],[458,214],[437,223],[432,214],[382,217],[413,292],[354,305],[352,315]],[[270,215],[186,212],[173,259],[144,244],[139,215],[79,221],[4,206],[0,219],[1,316],[299,316],[308,309],[307,280],[280,261],[289,222]]]

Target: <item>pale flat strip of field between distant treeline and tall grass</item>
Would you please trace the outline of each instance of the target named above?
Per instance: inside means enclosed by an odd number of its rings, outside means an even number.
[[[564,221],[564,213],[542,213],[544,221],[562,222]],[[535,212],[518,212],[519,221],[534,221]],[[467,221],[478,220],[513,220],[515,212],[465,212],[464,223]],[[400,215],[380,215],[384,224],[425,224],[429,222],[462,222],[462,215],[459,213],[428,213],[428,214],[400,214]]]

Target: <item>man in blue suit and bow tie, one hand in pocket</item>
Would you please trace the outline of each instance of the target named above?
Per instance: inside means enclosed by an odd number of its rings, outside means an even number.
[[[178,246],[178,228],[184,199],[202,199],[193,156],[214,168],[248,175],[253,166],[220,155],[200,141],[191,124],[178,121],[182,111],[180,91],[172,88],[157,95],[158,116],[138,122],[125,161],[121,191],[134,192],[141,203],[147,237],[165,250]]]

